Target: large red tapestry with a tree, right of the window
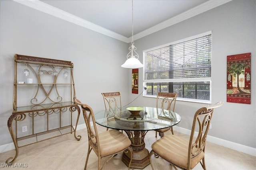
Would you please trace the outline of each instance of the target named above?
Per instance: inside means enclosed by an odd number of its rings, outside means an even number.
[[[227,102],[251,104],[251,53],[227,56]]]

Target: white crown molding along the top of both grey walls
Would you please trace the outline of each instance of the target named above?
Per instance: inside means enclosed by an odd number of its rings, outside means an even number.
[[[107,35],[114,39],[118,39],[118,40],[126,42],[126,43],[130,43],[132,41],[132,37],[128,38],[128,37],[125,37],[118,33],[115,33],[114,31],[110,31],[109,29],[106,29],[104,27],[96,25],[92,22],[89,22],[89,21],[79,18],[77,16],[74,16],[68,12],[65,12],[63,10],[55,8],[54,6],[50,6],[44,2],[41,2],[40,0],[13,0],[13,1],[23,4],[25,6],[28,6],[30,8],[34,8],[34,9],[44,12],[46,14],[50,14],[52,16],[58,17],[62,20],[66,20],[66,21],[69,21],[76,25],[80,25],[87,29],[91,29],[92,31],[96,31],[98,33]],[[140,39],[147,35],[150,35],[156,31],[159,31],[161,29],[164,29],[166,27],[174,25],[178,22],[184,21],[188,18],[191,18],[191,17],[201,14],[203,12],[206,12],[212,8],[215,8],[217,6],[220,6],[220,5],[230,2],[230,1],[232,1],[232,0],[208,0],[208,1],[204,2],[203,4],[200,4],[199,6],[196,6],[186,12],[183,12],[182,14],[179,14],[173,18],[170,18],[169,20],[163,21],[162,23],[159,23],[153,27],[150,27],[140,33],[137,33],[136,35],[134,35],[134,40],[137,40],[137,39]]]

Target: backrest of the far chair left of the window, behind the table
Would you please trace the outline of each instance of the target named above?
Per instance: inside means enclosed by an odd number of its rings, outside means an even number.
[[[122,107],[120,92],[108,92],[108,93],[101,93],[101,94],[103,96],[106,110]]]

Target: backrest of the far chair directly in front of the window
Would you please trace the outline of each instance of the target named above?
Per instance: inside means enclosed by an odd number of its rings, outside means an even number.
[[[158,92],[156,96],[156,107],[174,111],[178,93]]]

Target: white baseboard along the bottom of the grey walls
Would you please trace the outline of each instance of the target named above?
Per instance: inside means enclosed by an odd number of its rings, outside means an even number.
[[[78,131],[78,130],[85,129],[85,128],[86,128],[86,125],[81,124],[81,125],[77,126],[76,130]],[[190,132],[191,132],[188,129],[184,129],[184,128],[178,127],[178,126],[174,126],[173,130],[178,131],[180,133],[184,133],[186,135],[190,135]],[[244,152],[244,153],[250,154],[252,156],[256,156],[256,148],[248,147],[248,146],[241,145],[241,144],[238,144],[238,143],[234,143],[234,142],[231,142],[231,141],[226,141],[224,139],[220,139],[220,138],[217,138],[217,137],[212,137],[210,135],[207,136],[207,141],[209,141],[211,143],[214,143],[214,144],[217,144],[217,145],[220,145],[220,146],[223,146],[223,147],[227,147],[227,148],[230,148],[230,149],[237,150],[239,152]],[[0,153],[7,152],[7,151],[13,150],[13,149],[15,149],[13,143],[0,145]]]

